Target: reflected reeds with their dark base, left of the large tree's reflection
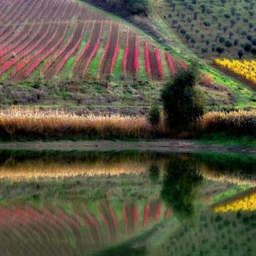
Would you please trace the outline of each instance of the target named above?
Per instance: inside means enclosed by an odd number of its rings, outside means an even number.
[[[152,165],[163,171],[165,154],[135,152],[1,151],[0,179],[33,181],[148,174]]]

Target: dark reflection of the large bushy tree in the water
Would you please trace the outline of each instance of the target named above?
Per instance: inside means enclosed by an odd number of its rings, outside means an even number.
[[[191,217],[195,211],[197,189],[202,181],[203,177],[196,173],[191,161],[171,159],[166,165],[162,199],[178,216]]]

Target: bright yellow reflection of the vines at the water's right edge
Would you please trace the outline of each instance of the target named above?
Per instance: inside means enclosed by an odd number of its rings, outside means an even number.
[[[213,206],[214,213],[227,211],[256,211],[256,192],[255,190],[242,193],[239,197],[232,197],[224,202]]]

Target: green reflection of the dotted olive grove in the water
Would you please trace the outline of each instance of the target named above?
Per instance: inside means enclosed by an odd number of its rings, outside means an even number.
[[[255,255],[255,225],[255,212],[204,211],[193,227],[184,225],[163,234],[157,253],[154,244],[149,244],[148,255]]]

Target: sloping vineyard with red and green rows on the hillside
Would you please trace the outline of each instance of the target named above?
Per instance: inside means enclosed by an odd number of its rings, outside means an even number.
[[[186,67],[72,0],[0,1],[0,79],[165,80]]]

